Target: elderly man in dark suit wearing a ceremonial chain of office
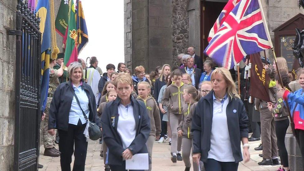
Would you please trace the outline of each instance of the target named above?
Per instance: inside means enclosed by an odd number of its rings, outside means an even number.
[[[187,66],[185,66],[183,69],[180,69],[183,74],[189,74],[192,79],[192,85],[195,88],[198,88],[199,79],[201,78],[201,70],[198,68],[194,68],[194,58],[190,55],[186,58],[187,60]]]

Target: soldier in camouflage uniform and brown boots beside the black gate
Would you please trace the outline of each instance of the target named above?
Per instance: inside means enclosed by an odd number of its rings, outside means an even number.
[[[49,82],[49,92],[45,106],[45,119],[41,121],[40,124],[40,133],[42,136],[43,145],[45,148],[44,155],[51,156],[51,157],[58,157],[61,153],[59,150],[55,148],[55,135],[50,135],[48,133],[48,122],[49,122],[49,109],[50,104],[53,99],[53,93],[55,92],[56,88],[59,85],[58,77],[63,74],[63,64],[59,69],[54,69],[53,66],[56,64],[56,60],[50,59],[50,82]]]

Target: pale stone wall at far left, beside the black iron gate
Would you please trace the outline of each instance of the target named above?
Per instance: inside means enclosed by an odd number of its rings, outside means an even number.
[[[0,170],[13,170],[17,1],[0,0]]]

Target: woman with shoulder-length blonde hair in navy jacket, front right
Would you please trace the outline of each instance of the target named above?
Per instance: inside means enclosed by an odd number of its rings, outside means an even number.
[[[211,92],[199,100],[192,117],[192,158],[204,162],[206,171],[237,171],[243,160],[240,141],[245,162],[250,159],[245,106],[228,69],[215,69],[211,84]]]

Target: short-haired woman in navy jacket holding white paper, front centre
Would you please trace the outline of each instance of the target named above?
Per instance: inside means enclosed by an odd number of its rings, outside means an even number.
[[[126,161],[134,154],[148,153],[150,118],[144,102],[131,98],[132,78],[120,73],[114,79],[116,99],[102,112],[102,137],[108,146],[106,164],[112,171],[126,170]]]

